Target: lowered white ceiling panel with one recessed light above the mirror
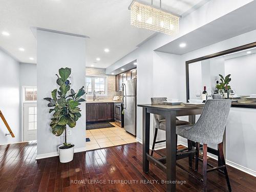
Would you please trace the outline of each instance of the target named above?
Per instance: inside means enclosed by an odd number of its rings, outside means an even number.
[[[256,29],[256,1],[246,4],[155,51],[182,55]],[[245,14],[246,13],[246,14]],[[186,47],[179,45],[185,42]]]

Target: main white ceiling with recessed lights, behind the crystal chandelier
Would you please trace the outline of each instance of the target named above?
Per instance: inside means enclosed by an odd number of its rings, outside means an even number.
[[[162,8],[183,14],[204,1],[163,0]],[[86,65],[106,68],[154,34],[130,25],[130,4],[131,0],[1,0],[0,32],[7,31],[10,36],[0,33],[0,47],[20,62],[36,63],[31,27],[87,35]],[[110,52],[105,53],[105,48]],[[97,57],[101,60],[95,63]]]

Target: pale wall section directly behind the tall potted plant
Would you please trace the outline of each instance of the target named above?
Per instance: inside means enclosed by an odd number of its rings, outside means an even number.
[[[37,155],[57,152],[57,146],[63,143],[63,135],[56,137],[51,133],[49,125],[48,102],[51,91],[58,89],[56,75],[58,69],[69,67],[71,73],[71,88],[78,91],[84,86],[86,78],[86,41],[85,38],[63,35],[37,30]],[[86,114],[85,103],[79,105],[81,118],[71,129],[72,135],[68,142],[77,148],[85,147]]]

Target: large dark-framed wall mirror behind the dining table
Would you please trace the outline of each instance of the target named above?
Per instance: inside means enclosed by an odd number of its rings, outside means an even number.
[[[204,86],[210,97],[220,97],[221,77],[230,74],[227,88],[232,106],[256,108],[255,73],[256,42],[186,61],[187,99],[201,99]]]

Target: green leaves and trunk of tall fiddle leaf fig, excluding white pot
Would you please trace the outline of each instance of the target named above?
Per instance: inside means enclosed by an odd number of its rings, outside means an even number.
[[[57,76],[57,84],[59,90],[53,90],[52,97],[46,97],[45,100],[49,101],[48,106],[51,108],[49,113],[53,113],[51,118],[52,134],[60,136],[65,132],[65,142],[63,145],[70,147],[71,144],[67,143],[67,125],[71,128],[76,126],[76,121],[81,117],[80,108],[78,107],[81,102],[86,101],[81,98],[86,92],[84,87],[79,89],[77,93],[73,89],[70,89],[70,81],[68,80],[71,74],[70,68],[59,69],[59,75]],[[70,94],[68,92],[70,91]]]

